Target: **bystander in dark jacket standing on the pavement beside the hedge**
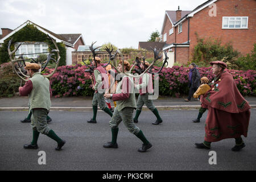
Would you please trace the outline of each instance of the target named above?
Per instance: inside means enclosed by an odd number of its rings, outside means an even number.
[[[188,73],[188,87],[189,87],[189,93],[188,98],[185,98],[185,102],[189,102],[191,100],[191,97],[193,96],[193,93],[196,92],[197,88],[200,85],[200,73],[198,69],[196,69],[196,64],[191,63],[189,73]]]

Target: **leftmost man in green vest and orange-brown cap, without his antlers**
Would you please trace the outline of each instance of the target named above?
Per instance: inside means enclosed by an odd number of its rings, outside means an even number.
[[[46,77],[39,72],[40,65],[36,63],[27,64],[29,81],[22,87],[19,87],[20,96],[29,96],[31,115],[31,127],[33,130],[33,139],[30,144],[24,144],[25,149],[37,149],[39,134],[45,134],[57,142],[55,150],[60,150],[64,146],[65,140],[59,138],[55,132],[49,129],[47,124],[47,114],[51,107],[51,85]]]

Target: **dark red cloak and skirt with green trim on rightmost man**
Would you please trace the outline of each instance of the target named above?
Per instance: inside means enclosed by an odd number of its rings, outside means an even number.
[[[243,98],[233,76],[223,72],[210,83],[211,88],[201,99],[208,107],[205,122],[205,141],[217,142],[225,138],[247,137],[250,105]]]

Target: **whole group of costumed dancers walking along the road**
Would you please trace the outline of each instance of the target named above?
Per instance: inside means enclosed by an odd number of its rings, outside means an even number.
[[[135,125],[139,121],[138,118],[142,112],[142,106],[145,104],[154,113],[156,121],[152,124],[159,125],[163,122],[152,100],[148,98],[154,92],[152,90],[151,73],[144,73],[143,76],[139,77],[138,81],[134,81],[133,77],[129,76],[131,69],[130,63],[128,61],[119,61],[117,66],[118,71],[127,74],[123,74],[122,78],[118,80],[114,78],[114,84],[111,84],[112,75],[108,73],[111,67],[105,69],[102,67],[101,61],[100,57],[94,57],[92,61],[94,66],[91,75],[92,89],[94,90],[92,100],[93,117],[88,123],[97,123],[96,117],[99,106],[101,110],[111,117],[109,126],[112,133],[112,140],[106,142],[103,147],[118,148],[118,126],[123,121],[127,130],[142,141],[142,147],[138,148],[138,151],[146,152],[152,147],[152,143],[148,141],[142,130]],[[250,119],[249,103],[238,91],[232,75],[225,71],[226,64],[222,61],[214,61],[210,64],[213,66],[214,80],[208,83],[202,82],[194,94],[195,97],[201,96],[200,113],[208,109],[204,141],[202,143],[195,143],[195,145],[197,148],[209,149],[212,142],[217,142],[225,138],[235,138],[236,145],[232,150],[240,151],[245,147],[245,142],[243,142],[241,135],[247,137]],[[143,70],[149,66],[147,61],[144,61],[140,65]],[[24,144],[24,148],[38,148],[38,137],[42,133],[55,140],[57,142],[55,149],[61,150],[65,144],[65,140],[59,138],[48,126],[48,122],[51,120],[48,117],[48,112],[51,107],[50,98],[52,94],[49,80],[40,74],[39,64],[29,63],[25,69],[30,78],[23,87],[19,87],[19,94],[20,96],[29,96],[29,116],[31,117],[33,137],[30,144]],[[108,73],[108,77],[104,76],[106,73]],[[139,90],[137,102],[134,89]],[[114,102],[114,109],[110,105],[110,99]],[[133,118],[134,110],[136,110],[136,113]],[[201,117],[201,114],[199,117]],[[27,118],[27,120],[29,121],[30,119]]]

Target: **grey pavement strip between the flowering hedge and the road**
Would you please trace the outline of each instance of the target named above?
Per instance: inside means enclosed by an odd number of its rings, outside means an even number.
[[[200,108],[200,101],[195,101],[192,98],[191,102],[184,102],[184,98],[158,97],[158,99],[153,100],[153,102],[158,110]],[[256,97],[250,96],[245,97],[245,99],[249,102],[251,108],[256,108]],[[52,97],[51,102],[51,110],[92,111],[92,97]],[[27,104],[28,97],[0,98],[0,110],[28,110]],[[111,105],[114,106],[113,103]],[[143,106],[143,110],[147,110],[147,107]]]

